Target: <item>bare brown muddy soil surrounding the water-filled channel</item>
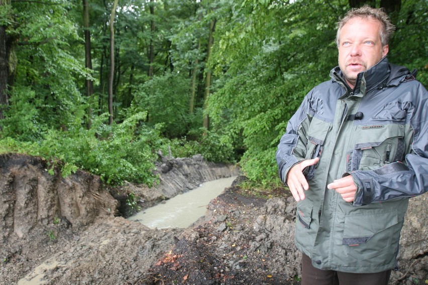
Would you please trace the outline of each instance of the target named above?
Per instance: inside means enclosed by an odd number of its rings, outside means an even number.
[[[155,204],[182,191],[177,185],[223,178],[217,168],[224,166],[198,157],[163,159],[158,171],[164,188],[106,189],[86,172],[62,178],[57,171],[49,175],[39,158],[2,156],[0,284],[298,284],[295,202],[283,189],[265,200],[235,184],[184,230],[152,230],[118,216],[121,202],[113,196],[133,191],[142,206]],[[411,199],[391,284],[427,282],[425,196]]]

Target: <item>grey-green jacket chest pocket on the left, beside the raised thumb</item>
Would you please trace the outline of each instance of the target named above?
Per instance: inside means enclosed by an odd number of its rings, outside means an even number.
[[[316,117],[312,118],[307,131],[307,145],[306,145],[306,156],[305,159],[320,158],[324,143],[326,141],[327,133],[332,128],[332,124]],[[312,179],[315,175],[317,165],[309,166],[305,169],[304,174],[306,179]]]

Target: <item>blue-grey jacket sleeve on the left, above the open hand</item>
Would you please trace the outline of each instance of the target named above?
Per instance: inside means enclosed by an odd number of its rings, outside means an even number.
[[[285,185],[290,168],[305,159],[309,97],[312,92],[313,89],[305,96],[300,107],[288,121],[285,134],[282,135],[276,151],[279,178]]]

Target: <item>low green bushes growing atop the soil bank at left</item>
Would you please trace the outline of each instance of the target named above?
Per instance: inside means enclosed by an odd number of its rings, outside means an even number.
[[[50,171],[59,166],[63,176],[83,169],[109,184],[127,180],[151,186],[156,183],[151,172],[156,160],[153,150],[161,147],[163,139],[156,129],[141,123],[145,117],[146,113],[137,113],[109,127],[103,123],[104,115],[90,129],[73,126],[67,131],[48,130],[38,145],[5,138],[0,146],[44,157]]]

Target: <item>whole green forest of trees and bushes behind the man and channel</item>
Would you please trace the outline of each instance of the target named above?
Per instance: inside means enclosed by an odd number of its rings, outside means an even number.
[[[159,151],[201,154],[278,184],[287,121],[364,4],[396,26],[389,61],[427,86],[426,0],[0,0],[0,153],[147,185]]]

